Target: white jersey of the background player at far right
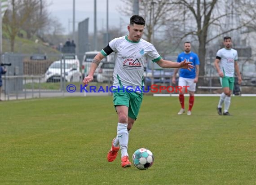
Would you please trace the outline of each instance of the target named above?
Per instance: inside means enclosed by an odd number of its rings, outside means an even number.
[[[220,69],[224,76],[234,77],[234,62],[238,60],[237,50],[222,48],[217,52],[216,58],[221,60]]]

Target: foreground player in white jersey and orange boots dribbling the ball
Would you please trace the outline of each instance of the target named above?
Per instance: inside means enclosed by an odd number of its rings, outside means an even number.
[[[128,159],[128,134],[137,119],[140,110],[144,87],[143,72],[146,57],[156,62],[163,68],[193,69],[191,62],[171,62],[163,60],[152,44],[143,40],[145,20],[141,16],[133,15],[127,26],[129,34],[115,38],[98,53],[92,62],[89,74],[84,78],[86,85],[93,80],[93,73],[100,61],[112,52],[115,52],[115,68],[113,91],[114,106],[118,115],[117,136],[112,141],[112,146],[107,154],[107,160],[116,159],[121,150],[121,166],[130,167]],[[128,88],[127,88],[128,87]]]

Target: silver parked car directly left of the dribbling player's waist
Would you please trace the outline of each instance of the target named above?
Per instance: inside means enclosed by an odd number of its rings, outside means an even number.
[[[113,82],[115,62],[102,62],[97,74],[97,82]]]

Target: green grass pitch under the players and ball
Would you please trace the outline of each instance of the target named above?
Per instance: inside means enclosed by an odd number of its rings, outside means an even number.
[[[177,115],[177,97],[145,96],[128,153],[150,149],[146,171],[122,168],[120,153],[106,160],[112,97],[0,102],[0,184],[256,185],[256,97],[232,97],[233,116],[217,115],[218,101],[195,97],[188,116]]]

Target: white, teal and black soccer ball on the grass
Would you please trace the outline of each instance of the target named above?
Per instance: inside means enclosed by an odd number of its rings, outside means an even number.
[[[146,170],[153,165],[154,156],[150,150],[141,148],[133,153],[132,162],[139,170]]]

